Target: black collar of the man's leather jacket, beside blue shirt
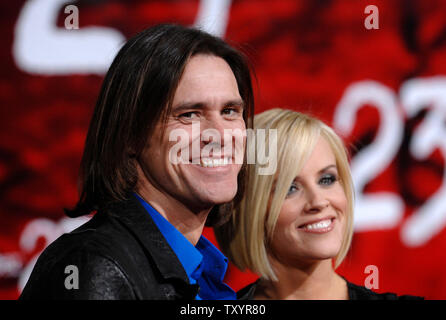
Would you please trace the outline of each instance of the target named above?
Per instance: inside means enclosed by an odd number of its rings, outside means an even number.
[[[189,284],[181,262],[146,209],[135,197],[130,196],[128,200],[114,203],[107,211],[141,242],[165,279],[175,278]]]

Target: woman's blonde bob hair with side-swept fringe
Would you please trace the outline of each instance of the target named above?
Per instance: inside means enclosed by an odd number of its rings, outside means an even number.
[[[277,129],[277,170],[274,174],[260,175],[258,168],[261,165],[257,162],[248,165],[247,188],[242,201],[231,220],[215,228],[222,251],[239,269],[250,269],[262,278],[277,280],[268,260],[277,218],[291,183],[319,137],[323,137],[334,153],[339,181],[347,199],[344,237],[334,259],[337,268],[347,255],[353,235],[354,191],[344,143],[322,121],[291,110],[271,109],[256,115],[254,129],[266,129],[264,145],[259,146],[257,142],[256,146],[248,141],[247,148],[269,146],[268,130]]]

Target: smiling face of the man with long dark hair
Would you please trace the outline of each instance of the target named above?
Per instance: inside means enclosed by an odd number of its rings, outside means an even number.
[[[193,132],[193,124],[199,125],[198,132]],[[241,164],[239,161],[234,163],[233,148],[224,151],[224,130],[244,132],[245,128],[243,100],[229,65],[213,55],[195,55],[186,64],[179,81],[164,134],[162,125],[158,124],[139,164],[149,184],[167,198],[175,199],[192,210],[229,202],[237,192]],[[192,164],[173,163],[169,157],[177,143],[169,141],[170,132],[178,129],[188,135],[186,142]],[[220,141],[212,142],[221,148],[221,152],[217,156],[219,148],[211,148],[213,151],[203,157],[203,149],[206,145],[209,147],[211,141],[208,140],[212,138],[203,139],[202,133],[209,129],[220,134]],[[192,152],[193,145],[199,146],[198,153]],[[194,159],[194,154],[201,156]],[[229,164],[228,158],[231,160]]]

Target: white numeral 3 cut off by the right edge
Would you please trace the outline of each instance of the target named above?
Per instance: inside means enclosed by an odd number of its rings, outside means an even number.
[[[400,96],[409,117],[429,107],[413,134],[411,154],[416,159],[425,159],[438,148],[446,160],[446,77],[409,80],[401,87]],[[401,239],[407,246],[420,246],[445,226],[446,169],[441,187],[408,217],[401,229]]]

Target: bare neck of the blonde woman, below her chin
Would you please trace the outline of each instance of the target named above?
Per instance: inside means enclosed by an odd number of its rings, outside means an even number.
[[[278,281],[261,279],[255,299],[347,300],[346,281],[333,270],[331,259],[290,267],[272,261]]]

